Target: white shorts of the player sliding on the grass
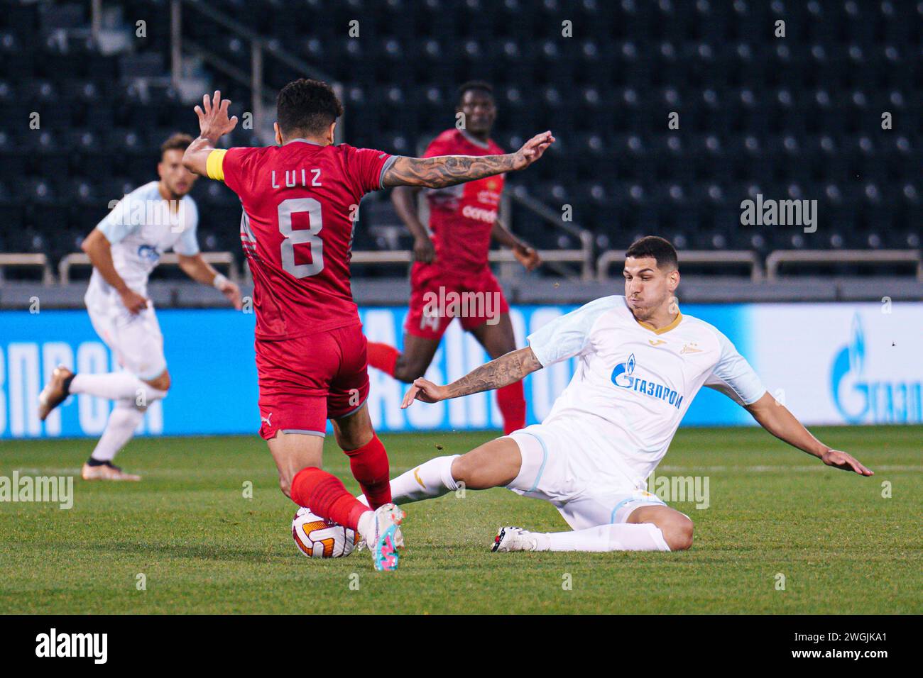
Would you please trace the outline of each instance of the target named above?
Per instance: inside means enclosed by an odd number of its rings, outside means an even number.
[[[666,506],[631,482],[585,435],[543,423],[509,434],[522,455],[520,473],[507,485],[522,496],[553,504],[571,529],[624,523],[639,506]]]

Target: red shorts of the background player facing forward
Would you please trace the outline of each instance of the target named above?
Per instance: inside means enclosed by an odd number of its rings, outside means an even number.
[[[404,331],[414,337],[441,339],[456,317],[470,331],[509,313],[507,298],[490,268],[458,273],[417,262],[411,268],[410,284]]]

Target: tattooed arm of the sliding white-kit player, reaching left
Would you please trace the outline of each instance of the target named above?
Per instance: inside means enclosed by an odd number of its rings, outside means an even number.
[[[423,402],[438,402],[439,400],[461,398],[472,393],[502,388],[540,369],[542,369],[542,363],[538,362],[538,358],[535,357],[530,347],[509,351],[509,353],[501,355],[497,360],[492,360],[490,363],[474,368],[467,375],[453,381],[448,386],[437,386],[423,377],[416,379],[414,386],[410,387],[410,390],[404,396],[401,408],[410,407],[414,399],[422,400]]]

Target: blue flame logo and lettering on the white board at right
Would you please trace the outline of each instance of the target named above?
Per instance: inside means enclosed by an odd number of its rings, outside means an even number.
[[[833,404],[849,423],[923,421],[919,381],[873,379],[866,374],[866,339],[859,315],[853,316],[849,343],[833,356]]]

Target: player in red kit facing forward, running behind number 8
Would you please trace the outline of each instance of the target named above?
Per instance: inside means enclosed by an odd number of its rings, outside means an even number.
[[[503,153],[490,138],[497,118],[490,85],[479,80],[466,82],[458,95],[455,110],[456,114],[463,114],[464,129],[452,127],[442,132],[429,144],[424,157]],[[406,383],[426,373],[442,335],[456,316],[492,359],[516,350],[509,304],[487,263],[491,239],[511,248],[528,271],[541,263],[532,247],[497,220],[503,192],[502,174],[430,190],[426,196],[429,229],[417,217],[416,196],[421,188],[399,186],[391,194],[398,215],[414,235],[410,313],[404,324],[403,352],[388,344],[374,341],[368,344],[369,364]],[[445,307],[434,303],[453,298],[468,298],[474,303],[454,307],[451,302],[443,304]],[[525,427],[521,381],[498,389],[497,405],[503,415],[505,434]]]

